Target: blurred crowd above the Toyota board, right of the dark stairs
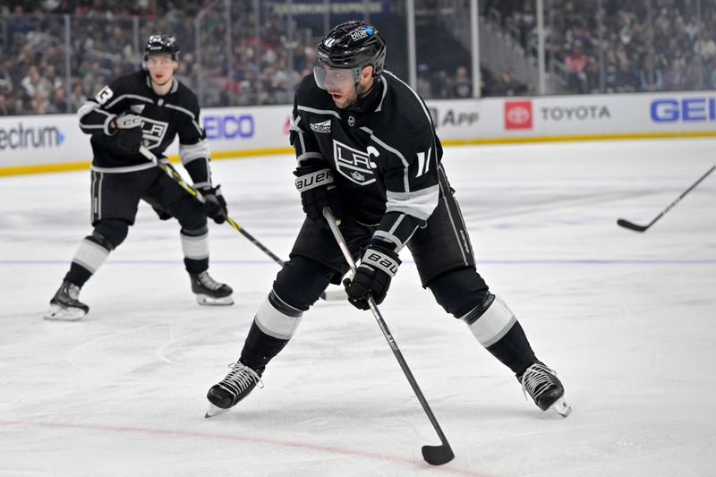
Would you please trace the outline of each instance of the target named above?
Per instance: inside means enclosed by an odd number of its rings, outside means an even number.
[[[536,41],[533,0],[487,0],[525,51]],[[716,89],[712,0],[547,0],[548,61],[565,92]]]

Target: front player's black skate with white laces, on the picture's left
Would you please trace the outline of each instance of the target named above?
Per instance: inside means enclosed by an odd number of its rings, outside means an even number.
[[[226,413],[230,407],[236,405],[244,397],[256,388],[263,388],[261,374],[264,367],[261,366],[257,370],[253,370],[244,365],[243,362],[234,362],[229,364],[229,373],[221,382],[215,384],[209,389],[207,398],[211,403],[204,417],[214,417],[220,413]]]

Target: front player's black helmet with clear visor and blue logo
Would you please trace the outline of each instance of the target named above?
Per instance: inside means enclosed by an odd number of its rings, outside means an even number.
[[[371,65],[373,74],[383,72],[386,60],[386,42],[378,29],[367,21],[352,20],[341,23],[318,45],[317,62],[329,68],[351,68],[354,79],[360,79],[363,67]]]

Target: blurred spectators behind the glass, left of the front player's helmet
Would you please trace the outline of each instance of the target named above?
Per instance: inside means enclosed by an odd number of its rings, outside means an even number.
[[[76,111],[115,77],[140,68],[143,42],[157,32],[179,38],[176,76],[195,92],[200,87],[202,106],[289,104],[294,84],[313,64],[312,48],[287,41],[277,15],[258,14],[251,0],[231,2],[231,63],[224,2],[45,0],[30,9],[27,4],[0,5],[0,115]]]

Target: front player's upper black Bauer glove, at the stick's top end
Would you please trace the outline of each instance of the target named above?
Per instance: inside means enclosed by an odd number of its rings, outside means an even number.
[[[313,220],[323,220],[323,208],[336,218],[343,216],[338,189],[333,183],[333,171],[316,167],[299,167],[294,171],[296,189],[301,192],[303,212]]]

